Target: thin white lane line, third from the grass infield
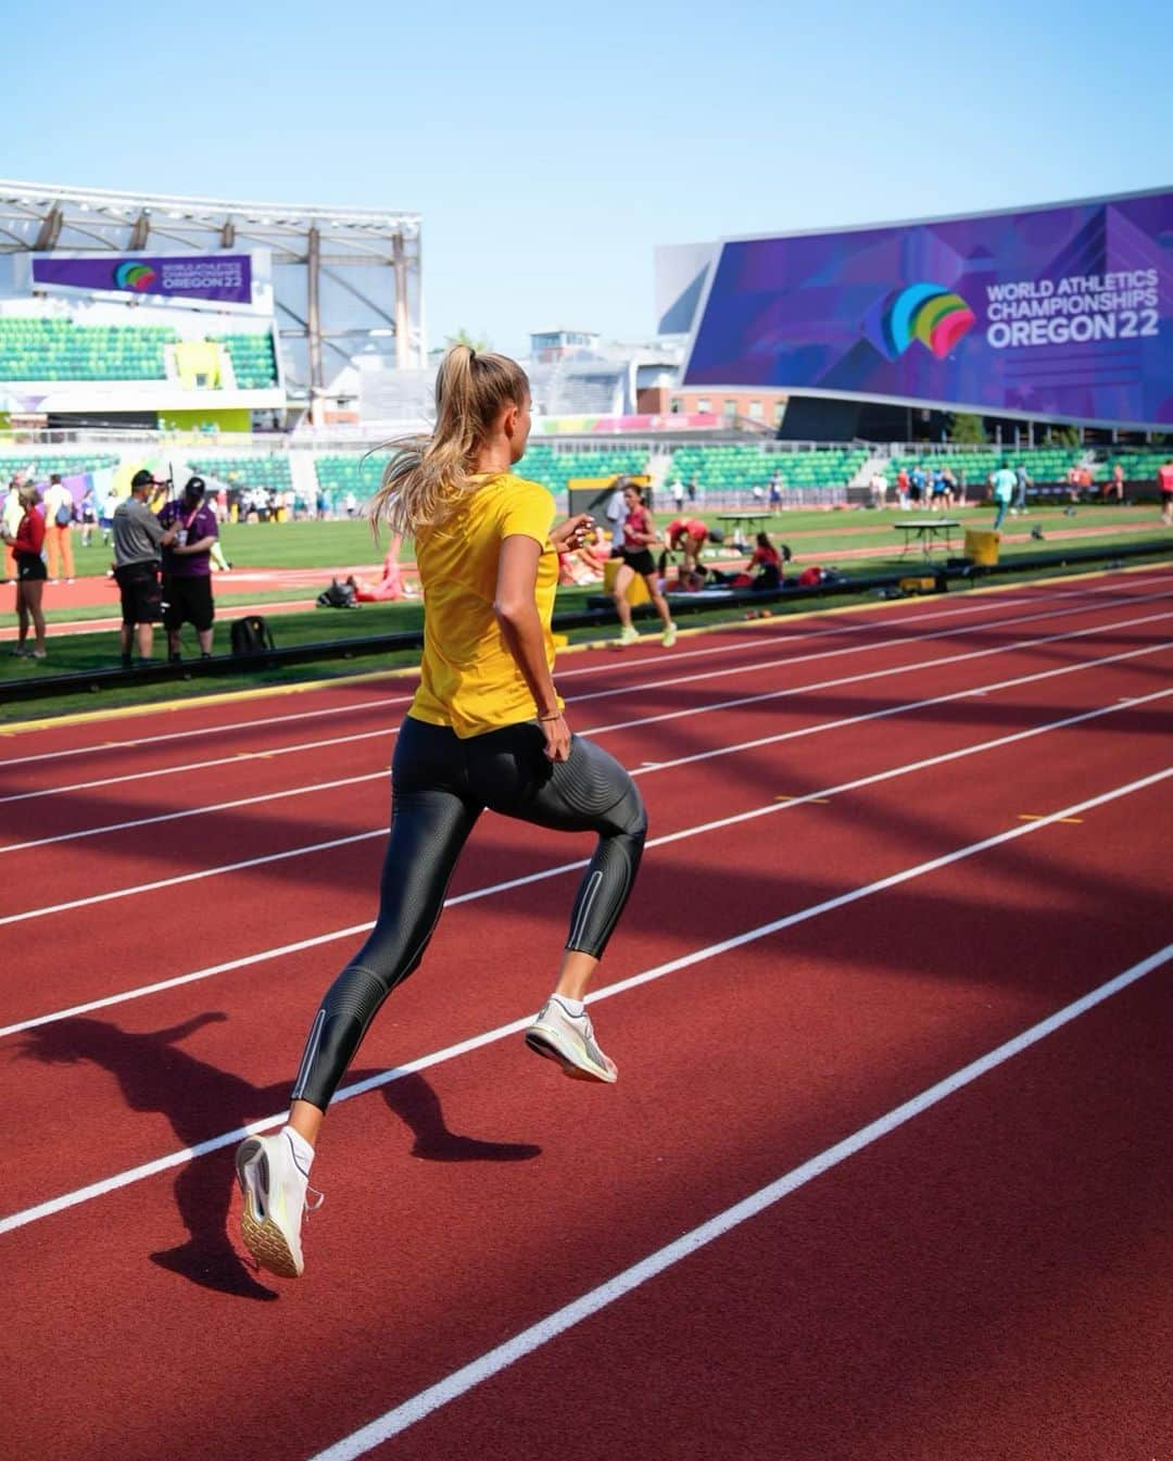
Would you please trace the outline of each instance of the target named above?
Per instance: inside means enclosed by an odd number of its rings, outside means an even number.
[[[1164,595],[1161,595],[1161,598],[1164,598]],[[1052,618],[1052,617],[1053,615],[1050,615],[1050,614],[1034,615],[1034,618]],[[885,679],[888,676],[895,676],[895,675],[916,674],[917,671],[928,669],[928,668],[938,668],[938,666],[945,666],[945,665],[961,665],[961,663],[966,663],[966,662],[973,660],[973,659],[989,659],[989,657],[992,657],[995,655],[1009,655],[1009,653],[1015,653],[1015,652],[1023,650],[1023,649],[1034,649],[1034,647],[1042,646],[1042,644],[1058,644],[1058,643],[1062,643],[1065,640],[1088,638],[1088,637],[1096,636],[1096,634],[1110,634],[1115,630],[1135,628],[1136,625],[1153,624],[1153,622],[1158,622],[1161,619],[1169,619],[1169,618],[1173,618],[1173,609],[1167,609],[1167,611],[1163,611],[1160,614],[1147,614],[1147,615],[1142,615],[1142,617],[1135,618],[1135,619],[1119,619],[1119,621],[1116,621],[1113,624],[1097,624],[1097,625],[1093,625],[1093,627],[1084,628],[1084,630],[1066,630],[1062,634],[1046,634],[1046,636],[1040,636],[1037,638],[1014,640],[1009,644],[998,644],[998,646],[992,646],[992,647],[987,647],[987,649],[967,650],[966,653],[961,653],[961,655],[947,655],[942,659],[935,659],[935,660],[913,660],[912,663],[907,663],[907,665],[893,665],[893,666],[887,666],[884,669],[865,671],[862,675],[840,675],[836,679],[817,679],[817,681],[809,681],[805,685],[790,685],[790,687],[787,687],[784,690],[768,690],[768,691],[763,691],[761,694],[757,694],[757,695],[739,695],[739,697],[736,697],[733,700],[713,700],[713,701],[708,701],[707,704],[703,704],[703,706],[689,706],[689,707],[687,707],[684,710],[668,710],[668,712],[663,712],[660,714],[641,716],[641,717],[637,717],[634,720],[619,720],[619,722],[615,722],[612,725],[605,725],[605,726],[587,726],[587,729],[581,730],[580,735],[611,735],[615,730],[631,730],[631,729],[638,728],[638,726],[656,725],[656,723],[659,723],[662,720],[679,720],[679,719],[687,719],[687,717],[691,717],[691,716],[710,714],[711,712],[716,712],[716,710],[733,710],[733,709],[739,709],[739,707],[744,707],[744,706],[761,704],[763,701],[768,701],[768,700],[784,700],[784,698],[792,697],[792,695],[809,694],[811,691],[815,691],[815,690],[837,690],[837,688],[841,688],[843,685],[863,684],[863,682],[871,681],[871,679]],[[898,643],[898,641],[888,641],[888,643]],[[885,646],[871,646],[871,647],[881,649],[881,647],[885,647]],[[841,653],[841,652],[840,650],[831,650],[827,657],[838,655],[838,653]],[[803,656],[803,657],[821,659],[824,656],[821,656],[821,655],[812,655],[812,656]],[[776,665],[787,665],[787,663],[795,663],[795,660],[777,660],[774,663]],[[758,669],[774,668],[774,663],[763,663],[763,665],[760,665],[757,668]],[[644,687],[644,688],[647,688],[647,687]],[[570,700],[568,704],[574,704],[574,701]],[[364,739],[367,735],[380,735],[380,736],[386,735],[390,739],[390,738],[396,736],[397,733],[399,733],[399,726],[394,726],[394,728],[387,729],[387,730],[364,732],[364,735],[359,735],[359,736],[343,736],[342,739],[343,741],[348,741],[348,739],[358,741],[358,739]],[[297,745],[297,747],[286,747],[285,751],[313,749],[318,744],[321,744],[321,742],[305,742],[305,744]],[[254,755],[261,755],[263,752],[253,752],[253,754]],[[285,752],[273,751],[273,752],[269,752],[269,754],[270,755],[278,755],[278,754],[285,754]],[[231,760],[237,760],[237,758],[229,757],[228,760],[231,761]],[[188,770],[191,770],[191,768],[193,767],[188,767]],[[161,773],[161,771],[149,771],[149,773],[145,773],[145,774],[156,776],[156,774],[164,774],[164,773]],[[168,771],[167,774],[172,774],[172,773]],[[159,812],[155,817],[145,817],[145,818],[131,820],[131,821],[104,823],[99,827],[85,827],[85,828],[82,828],[79,831],[57,833],[53,837],[38,837],[38,839],[35,839],[32,842],[15,842],[15,843],[9,843],[7,846],[0,846],[0,856],[3,856],[4,853],[10,853],[10,852],[29,852],[34,847],[48,847],[48,846],[51,846],[54,843],[61,843],[61,842],[76,842],[76,840],[79,840],[82,837],[98,837],[98,836],[101,836],[104,833],[110,833],[110,831],[127,831],[129,828],[133,828],[133,827],[150,827],[150,825],[155,825],[156,823],[178,821],[178,820],[186,818],[186,817],[202,817],[202,815],[205,815],[207,812],[226,811],[226,809],[235,808],[235,806],[256,806],[256,805],[259,805],[261,802],[280,801],[285,796],[305,795],[308,792],[316,792],[316,790],[323,790],[323,789],[332,789],[335,786],[354,785],[355,782],[361,782],[361,780],[368,780],[368,782],[370,780],[377,780],[377,779],[384,777],[386,774],[387,774],[386,770],[368,771],[365,776],[349,777],[349,780],[346,780],[346,782],[311,783],[308,786],[298,786],[298,787],[288,789],[288,790],[263,792],[263,793],[260,793],[257,796],[240,798],[240,799],[232,801],[232,802],[218,802],[218,804],[210,805],[210,806],[191,806],[191,808],[187,808],[186,811]],[[133,777],[126,777],[126,780],[133,780]],[[92,783],[88,783],[88,785],[89,786],[101,786],[101,785],[105,785],[105,783],[92,782]],[[80,787],[80,786],[77,786],[77,787],[57,787],[56,790],[79,790],[79,789],[83,789],[83,787]],[[54,795],[54,790],[48,790],[48,792],[29,792],[29,793],[23,793],[22,796],[15,796],[15,798],[10,798],[10,799],[12,801],[23,801],[25,796],[42,796],[42,795],[44,796]]]

